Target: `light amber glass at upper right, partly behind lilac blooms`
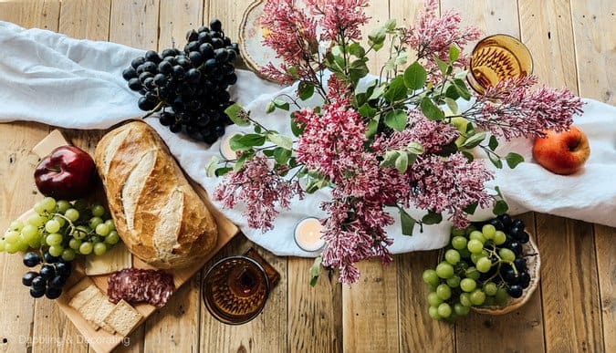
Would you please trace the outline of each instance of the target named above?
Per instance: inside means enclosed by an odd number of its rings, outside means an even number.
[[[479,94],[506,78],[533,72],[533,59],[524,43],[508,35],[487,36],[473,49],[468,83]]]

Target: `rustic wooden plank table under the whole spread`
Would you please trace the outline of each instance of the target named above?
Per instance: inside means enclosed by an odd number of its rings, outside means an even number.
[[[68,36],[134,47],[183,43],[187,29],[218,17],[235,37],[250,0],[33,0],[0,2],[0,19]],[[409,23],[419,0],[373,1],[371,25],[392,16]],[[378,5],[377,5],[378,3]],[[530,47],[541,81],[616,105],[616,2],[613,0],[441,0],[465,24],[507,33]],[[0,48],[2,50],[2,48]],[[375,60],[376,59],[376,60]],[[383,62],[373,57],[372,69]],[[36,104],[36,102],[32,102]],[[1,109],[1,108],[0,108]],[[31,147],[51,130],[34,123],[0,124],[0,229],[41,196],[32,178]],[[92,151],[104,131],[64,130]],[[562,192],[567,192],[563,190]],[[261,254],[280,271],[262,315],[238,327],[220,324],[200,299],[196,275],[120,350],[161,352],[329,351],[616,351],[616,230],[547,214],[523,219],[537,235],[543,259],[540,290],[506,317],[472,315],[457,325],[427,315],[421,274],[435,253],[395,256],[388,267],[360,265],[360,283],[321,278],[308,286],[311,259]],[[214,260],[250,245],[238,236]],[[208,264],[205,266],[207,268]],[[49,300],[27,296],[16,255],[0,254],[0,350],[88,351],[78,331]]]

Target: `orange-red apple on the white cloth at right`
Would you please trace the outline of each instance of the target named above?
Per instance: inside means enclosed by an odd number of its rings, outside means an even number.
[[[569,131],[544,131],[545,138],[535,139],[533,158],[548,171],[557,174],[573,174],[588,161],[589,139],[578,127],[571,125]]]

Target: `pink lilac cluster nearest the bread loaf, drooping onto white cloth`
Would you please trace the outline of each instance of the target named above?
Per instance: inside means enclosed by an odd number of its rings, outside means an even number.
[[[273,228],[277,216],[276,203],[288,209],[291,198],[303,192],[298,182],[287,182],[277,171],[273,171],[262,154],[246,161],[239,171],[225,174],[214,190],[214,200],[223,202],[225,208],[233,208],[240,201],[246,209],[244,216],[252,228],[263,232]]]

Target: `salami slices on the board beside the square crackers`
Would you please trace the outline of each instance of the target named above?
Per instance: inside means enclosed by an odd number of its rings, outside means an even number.
[[[173,277],[160,270],[125,268],[110,275],[107,296],[112,303],[121,299],[162,307],[173,294]]]

